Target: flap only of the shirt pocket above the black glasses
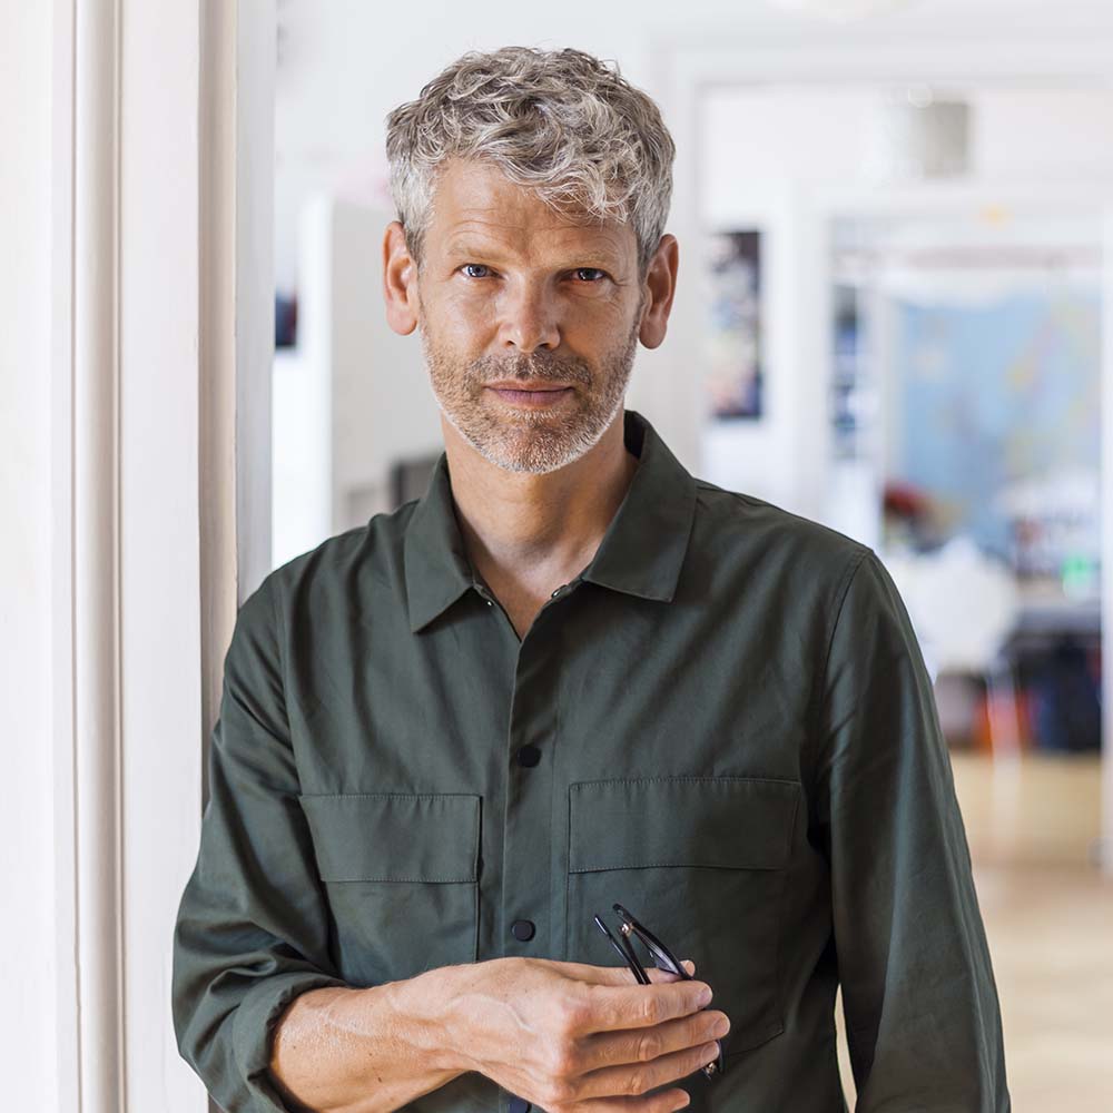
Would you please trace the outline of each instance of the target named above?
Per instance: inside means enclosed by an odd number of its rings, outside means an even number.
[[[569,870],[639,866],[780,869],[800,785],[755,777],[579,781],[569,790]]]

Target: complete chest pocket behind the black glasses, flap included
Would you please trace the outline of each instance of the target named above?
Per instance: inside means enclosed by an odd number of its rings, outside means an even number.
[[[595,780],[569,789],[571,962],[614,966],[618,902],[715,991],[730,1017],[725,1055],[785,1030],[778,944],[800,798],[795,781],[749,777]],[[634,949],[651,966],[640,942]],[[633,975],[631,975],[631,982]]]

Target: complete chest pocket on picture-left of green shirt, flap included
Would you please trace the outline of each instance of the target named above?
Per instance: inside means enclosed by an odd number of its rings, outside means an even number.
[[[302,796],[333,916],[334,958],[361,985],[475,962],[480,797]]]

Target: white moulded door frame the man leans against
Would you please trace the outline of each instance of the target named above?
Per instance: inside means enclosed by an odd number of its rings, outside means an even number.
[[[269,568],[274,0],[53,0],[60,1107],[200,1113],[170,1022],[208,732]]]

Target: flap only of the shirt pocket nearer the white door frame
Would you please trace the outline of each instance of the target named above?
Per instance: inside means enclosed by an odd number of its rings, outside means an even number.
[[[480,797],[467,792],[299,796],[323,881],[474,881]]]

